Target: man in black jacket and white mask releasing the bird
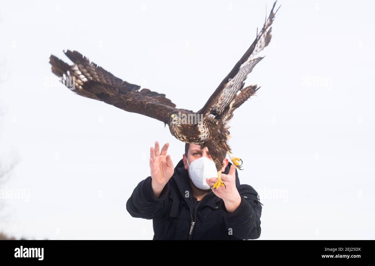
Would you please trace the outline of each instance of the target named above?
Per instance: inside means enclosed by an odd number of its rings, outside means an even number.
[[[225,151],[221,179],[226,187],[214,189],[210,186],[217,181],[217,171],[207,147],[201,150],[186,143],[175,168],[168,147],[166,143],[159,152],[156,141],[150,148],[151,176],[136,186],[126,203],[132,217],[153,219],[153,239],[259,238],[258,193],[240,184],[236,166],[225,158]]]

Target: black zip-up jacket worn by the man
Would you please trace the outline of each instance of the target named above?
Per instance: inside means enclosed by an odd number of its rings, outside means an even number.
[[[228,174],[230,166],[229,162],[224,174]],[[211,190],[196,208],[189,178],[181,159],[159,198],[154,196],[149,176],[136,186],[126,202],[126,210],[132,217],[153,219],[154,240],[259,238],[262,212],[259,196],[251,186],[240,184],[237,169],[236,187],[242,201],[231,214]]]

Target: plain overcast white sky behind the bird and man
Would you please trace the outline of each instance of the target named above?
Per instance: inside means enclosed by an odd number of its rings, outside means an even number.
[[[57,84],[77,50],[121,79],[199,110],[253,42],[273,1],[3,1],[0,231],[28,239],[152,239],[126,201],[149,147],[184,144],[163,123]],[[374,3],[279,1],[262,88],[232,120],[242,184],[264,204],[259,239],[375,239]],[[68,61],[69,62],[69,61]],[[27,201],[27,199],[26,199]]]

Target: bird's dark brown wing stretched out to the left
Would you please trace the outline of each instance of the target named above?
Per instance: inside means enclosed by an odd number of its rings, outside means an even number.
[[[52,65],[52,72],[78,95],[104,101],[125,111],[143,114],[164,123],[168,123],[172,113],[192,113],[189,110],[175,108],[176,105],[165,98],[165,94],[149,89],[139,90],[141,86],[115,77],[77,51],[68,50],[65,55],[71,59],[73,65],[54,55],[49,58],[49,63]]]

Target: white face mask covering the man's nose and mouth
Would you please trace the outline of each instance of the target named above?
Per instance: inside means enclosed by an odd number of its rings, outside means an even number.
[[[209,189],[206,178],[217,177],[216,165],[207,157],[202,156],[193,160],[190,165],[187,162],[187,166],[189,166],[189,177],[198,189]]]

